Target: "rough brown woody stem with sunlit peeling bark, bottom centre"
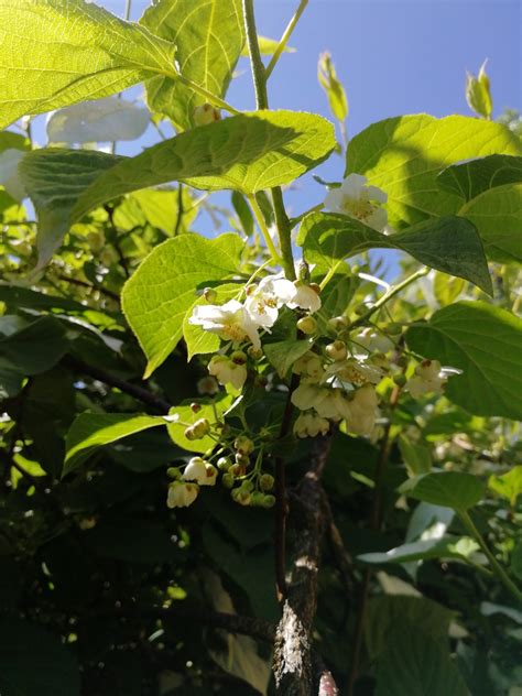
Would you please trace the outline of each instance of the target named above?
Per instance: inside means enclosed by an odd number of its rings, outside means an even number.
[[[319,479],[330,442],[330,437],[316,438],[311,467],[291,498],[291,573],[273,660],[278,693],[284,696],[309,696],[315,690],[312,624],[317,608],[320,548],[328,525],[328,503]]]

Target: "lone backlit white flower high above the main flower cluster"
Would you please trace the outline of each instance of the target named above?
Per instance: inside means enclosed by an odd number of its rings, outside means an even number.
[[[388,214],[378,204],[388,200],[387,194],[377,186],[367,186],[361,174],[349,174],[340,188],[333,188],[325,198],[325,208],[331,213],[341,213],[356,220],[382,231],[388,222]]]

